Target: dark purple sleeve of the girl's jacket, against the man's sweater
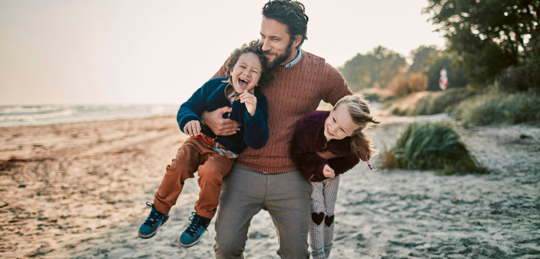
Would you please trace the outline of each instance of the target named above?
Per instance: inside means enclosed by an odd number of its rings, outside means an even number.
[[[308,116],[309,114],[306,117]],[[315,138],[318,137],[318,132],[313,130],[314,125],[309,125],[306,117],[296,126],[291,143],[291,156],[306,180],[318,182],[325,180],[322,169],[325,165],[328,165],[328,161],[316,154],[315,150],[309,148],[313,146]]]

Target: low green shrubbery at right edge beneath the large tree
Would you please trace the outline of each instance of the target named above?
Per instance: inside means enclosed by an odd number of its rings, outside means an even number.
[[[540,123],[540,97],[536,92],[492,91],[464,101],[457,107],[457,119],[465,125]]]

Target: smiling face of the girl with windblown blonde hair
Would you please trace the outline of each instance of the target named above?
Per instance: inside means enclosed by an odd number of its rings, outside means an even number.
[[[350,117],[347,104],[340,104],[335,107],[325,121],[325,137],[330,139],[343,139],[349,137],[359,128]]]

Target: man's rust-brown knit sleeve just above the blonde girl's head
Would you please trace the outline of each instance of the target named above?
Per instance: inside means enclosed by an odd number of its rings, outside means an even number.
[[[326,66],[328,66],[328,70],[326,73],[324,84],[325,91],[322,93],[322,100],[326,103],[335,105],[339,99],[344,96],[350,96],[353,92],[350,91],[347,81],[345,81],[345,78],[343,78],[341,73],[335,67],[329,64],[326,64]]]

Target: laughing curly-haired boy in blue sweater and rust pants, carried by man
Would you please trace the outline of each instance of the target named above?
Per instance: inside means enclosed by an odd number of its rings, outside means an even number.
[[[154,203],[147,202],[152,210],[139,227],[138,235],[150,238],[168,219],[168,212],[176,203],[187,178],[199,174],[199,200],[190,217],[190,225],[179,238],[180,246],[197,244],[207,229],[218,207],[221,180],[228,174],[234,158],[245,147],[259,149],[268,140],[268,112],[266,97],[255,86],[265,86],[272,76],[267,69],[264,56],[257,40],[244,44],[233,51],[227,64],[227,78],[214,78],[199,88],[182,104],[178,111],[178,125],[190,135],[178,149],[176,158],[167,166]],[[210,128],[201,125],[204,111],[213,111],[228,106],[230,118],[242,124],[239,132],[228,136],[217,136]]]

